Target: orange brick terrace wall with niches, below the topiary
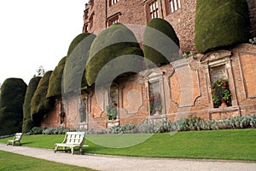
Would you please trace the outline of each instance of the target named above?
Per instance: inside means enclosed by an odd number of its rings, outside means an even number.
[[[170,65],[142,71],[125,77],[117,83],[118,116],[108,121],[108,89],[95,92],[87,89],[83,94],[63,100],[67,128],[109,128],[114,125],[142,123],[143,121],[177,120],[189,115],[203,119],[242,116],[256,113],[254,73],[256,45],[241,44],[230,50],[218,50],[197,54]],[[211,92],[212,68],[221,66],[219,77],[229,78],[232,105],[214,108]],[[218,75],[217,72],[214,72]],[[159,83],[161,112],[150,115],[149,84]],[[86,121],[79,122],[80,100],[85,101]],[[57,127],[60,123],[60,107],[45,118],[43,127]]]

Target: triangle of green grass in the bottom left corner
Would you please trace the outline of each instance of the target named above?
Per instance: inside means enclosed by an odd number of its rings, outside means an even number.
[[[62,164],[58,162],[49,162],[42,159],[37,159],[33,157],[26,157],[23,155],[14,154],[11,152],[0,151],[0,170],[26,170],[26,171],[62,171],[62,170],[72,170],[72,171],[92,171],[90,168],[82,168],[77,166],[71,166],[67,164]]]

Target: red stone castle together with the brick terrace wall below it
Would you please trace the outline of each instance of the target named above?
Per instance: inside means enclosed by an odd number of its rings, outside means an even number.
[[[196,52],[195,0],[90,0],[85,4],[83,32],[99,33],[120,22],[146,26],[153,18],[172,24],[181,51]],[[250,32],[256,37],[256,4],[247,0]],[[137,28],[137,27],[136,27]],[[137,31],[140,32],[140,31]],[[142,43],[141,35],[137,35]],[[189,115],[207,119],[242,116],[256,111],[256,46],[242,43],[232,49],[192,55],[159,68],[113,83],[110,89],[89,88],[79,95],[56,100],[55,109],[41,126],[55,128],[111,128],[143,121],[175,120]],[[216,106],[211,84],[220,78],[229,83],[230,101]],[[154,99],[152,99],[154,97]],[[116,115],[108,118],[109,101]],[[151,109],[151,102],[158,109]],[[84,114],[84,117],[79,117]]]

